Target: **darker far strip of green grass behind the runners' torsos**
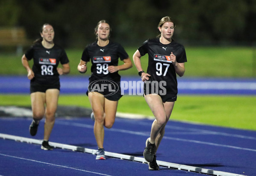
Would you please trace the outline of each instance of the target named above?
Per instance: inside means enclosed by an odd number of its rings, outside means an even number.
[[[253,50],[251,47],[185,47],[188,62],[185,63],[185,76],[199,77],[253,77]],[[126,47],[132,59],[135,47]],[[82,50],[66,50],[70,60],[71,75],[80,75],[77,65],[82,56]],[[147,56],[141,58],[144,70],[147,70]],[[256,61],[255,61],[256,62]],[[21,56],[15,54],[0,54],[0,75],[26,75],[21,65]],[[122,64],[123,62],[119,62]],[[32,65],[32,61],[29,62]],[[91,67],[91,63],[88,63]],[[85,75],[90,75],[90,71]],[[121,71],[121,75],[137,75],[136,67]]]

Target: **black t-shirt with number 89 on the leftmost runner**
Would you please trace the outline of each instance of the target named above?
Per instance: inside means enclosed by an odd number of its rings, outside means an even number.
[[[31,81],[44,85],[59,82],[59,73],[57,71],[59,62],[62,65],[69,62],[65,50],[56,44],[47,49],[41,43],[36,43],[26,51],[25,56],[28,60],[33,59],[34,61],[32,70],[35,77]]]

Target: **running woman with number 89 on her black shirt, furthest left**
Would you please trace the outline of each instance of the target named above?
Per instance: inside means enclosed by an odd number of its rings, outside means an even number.
[[[70,72],[69,60],[62,47],[54,44],[53,26],[46,23],[41,28],[41,37],[22,56],[22,65],[26,68],[30,79],[30,97],[33,120],[29,126],[30,135],[36,135],[40,120],[45,115],[44,141],[41,149],[52,150],[48,144],[55,122],[55,112],[58,106],[60,82],[59,75]],[[33,59],[32,69],[29,60]],[[62,68],[58,67],[59,62]]]

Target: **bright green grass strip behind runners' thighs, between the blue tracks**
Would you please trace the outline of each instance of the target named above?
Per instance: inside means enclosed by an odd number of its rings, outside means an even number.
[[[29,95],[0,94],[0,106],[30,106]],[[172,120],[256,130],[256,96],[179,96]],[[60,95],[59,105],[91,108],[86,95]],[[123,96],[118,112],[153,116],[143,96]]]

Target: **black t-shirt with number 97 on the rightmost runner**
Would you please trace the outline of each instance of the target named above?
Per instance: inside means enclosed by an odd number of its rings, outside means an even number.
[[[162,44],[159,38],[148,39],[138,48],[141,56],[148,53],[147,73],[151,75],[150,81],[165,81],[167,94],[177,94],[177,77],[174,65],[168,61],[171,52],[176,56],[178,63],[187,62],[185,48],[182,44],[172,41]]]

